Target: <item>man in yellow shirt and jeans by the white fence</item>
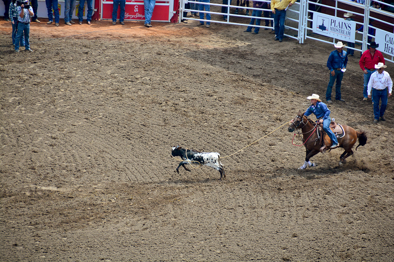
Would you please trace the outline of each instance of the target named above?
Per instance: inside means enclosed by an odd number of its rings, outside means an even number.
[[[286,9],[292,6],[296,0],[271,0],[271,10],[275,23],[275,41],[282,42],[284,34],[284,20],[286,19]]]

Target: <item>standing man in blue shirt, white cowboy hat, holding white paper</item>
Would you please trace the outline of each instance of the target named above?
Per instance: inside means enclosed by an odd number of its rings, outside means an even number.
[[[332,103],[331,92],[333,90],[335,80],[335,99],[342,102],[345,101],[341,98],[341,85],[342,78],[344,77],[344,71],[342,71],[342,69],[346,68],[346,65],[348,64],[348,53],[342,50],[346,44],[342,44],[342,42],[338,41],[334,46],[336,50],[331,52],[327,60],[327,67],[330,70],[330,81],[327,86],[327,92],[325,93],[327,103]]]

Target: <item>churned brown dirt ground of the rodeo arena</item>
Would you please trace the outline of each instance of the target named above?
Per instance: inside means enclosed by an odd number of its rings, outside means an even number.
[[[393,261],[394,101],[372,124],[359,53],[329,108],[367,144],[300,171],[286,123],[324,98],[332,45],[191,20],[42,21],[19,54],[0,22],[0,261]],[[176,145],[219,152],[227,179],[178,175]]]

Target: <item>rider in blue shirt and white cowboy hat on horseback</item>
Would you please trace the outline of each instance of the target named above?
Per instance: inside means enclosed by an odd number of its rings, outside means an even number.
[[[307,99],[310,100],[312,104],[308,107],[307,111],[305,111],[304,116],[309,116],[310,114],[314,114],[316,118],[318,118],[317,123],[323,123],[323,129],[325,133],[330,137],[333,145],[330,148],[336,148],[338,146],[338,139],[336,139],[335,134],[330,129],[331,117],[330,117],[330,109],[328,109],[327,105],[320,100],[320,96],[317,94],[312,94],[312,96],[308,96]]]

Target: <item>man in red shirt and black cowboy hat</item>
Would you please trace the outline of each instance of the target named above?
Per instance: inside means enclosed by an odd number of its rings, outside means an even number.
[[[379,62],[383,63],[383,65],[385,64],[385,58],[382,53],[379,50],[376,50],[378,47],[379,44],[371,42],[369,49],[362,53],[359,61],[360,68],[362,72],[364,72],[364,91],[362,92],[362,95],[364,96],[362,99],[363,101],[368,99],[368,82],[371,74],[376,70],[375,65]]]

